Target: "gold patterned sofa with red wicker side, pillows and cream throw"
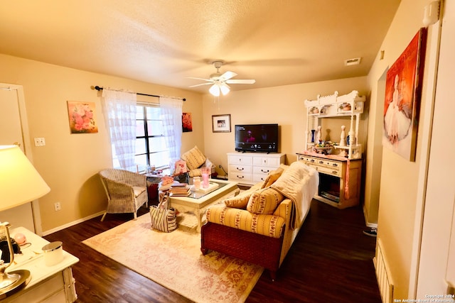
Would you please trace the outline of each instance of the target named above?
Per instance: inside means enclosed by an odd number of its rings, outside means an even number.
[[[260,265],[274,280],[318,185],[318,172],[304,162],[281,165],[264,182],[210,206],[200,250],[204,255],[215,250]]]

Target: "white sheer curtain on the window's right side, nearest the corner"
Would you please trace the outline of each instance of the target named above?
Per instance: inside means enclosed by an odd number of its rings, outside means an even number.
[[[163,119],[164,136],[171,165],[180,159],[182,146],[182,106],[183,101],[179,99],[160,97],[159,104]],[[173,170],[173,167],[171,167]]]

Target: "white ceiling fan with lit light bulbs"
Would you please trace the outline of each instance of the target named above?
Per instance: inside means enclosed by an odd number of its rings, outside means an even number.
[[[207,83],[201,83],[196,85],[191,85],[191,87],[199,87],[200,85],[212,85],[208,91],[213,96],[218,97],[220,96],[220,92],[225,95],[230,92],[230,87],[228,84],[254,84],[256,82],[255,79],[231,79],[232,77],[237,76],[235,72],[225,72],[223,75],[220,73],[220,67],[223,65],[222,60],[213,61],[213,66],[216,68],[216,72],[210,75],[210,79],[203,79],[203,78],[194,78],[189,77],[189,79],[199,79],[206,81]]]

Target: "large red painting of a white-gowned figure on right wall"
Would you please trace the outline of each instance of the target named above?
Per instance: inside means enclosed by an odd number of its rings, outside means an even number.
[[[415,161],[427,28],[420,28],[387,70],[382,145]]]

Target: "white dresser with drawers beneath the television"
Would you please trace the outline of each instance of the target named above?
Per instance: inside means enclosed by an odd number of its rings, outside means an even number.
[[[252,185],[284,164],[284,153],[228,153],[228,176],[232,182]]]

